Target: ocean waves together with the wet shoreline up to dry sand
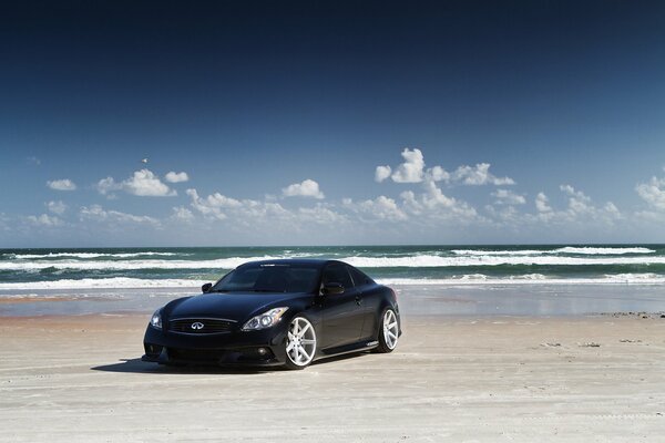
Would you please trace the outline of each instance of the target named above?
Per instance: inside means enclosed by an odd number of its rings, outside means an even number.
[[[665,311],[665,245],[196,247],[0,249],[0,317],[149,316],[272,258],[347,261],[407,316]]]

